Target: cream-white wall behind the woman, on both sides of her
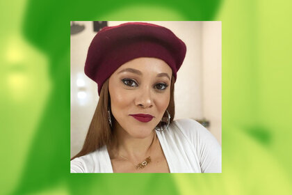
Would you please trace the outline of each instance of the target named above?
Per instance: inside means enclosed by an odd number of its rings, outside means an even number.
[[[124,21],[108,22],[108,26],[121,23]],[[209,130],[221,143],[221,23],[150,23],[165,26],[186,43],[186,59],[175,83],[175,119],[210,120]],[[85,30],[71,36],[71,157],[83,145],[98,101],[97,84],[83,72],[88,47],[95,36],[93,23],[76,24],[85,25]]]

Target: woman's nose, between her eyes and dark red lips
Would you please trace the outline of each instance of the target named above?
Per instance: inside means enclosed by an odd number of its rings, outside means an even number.
[[[153,107],[152,94],[149,86],[140,88],[140,90],[137,91],[135,104],[144,109]]]

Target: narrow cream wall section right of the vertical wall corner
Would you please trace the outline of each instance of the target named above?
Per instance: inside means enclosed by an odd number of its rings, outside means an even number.
[[[221,143],[221,22],[202,24],[203,116],[209,130]]]

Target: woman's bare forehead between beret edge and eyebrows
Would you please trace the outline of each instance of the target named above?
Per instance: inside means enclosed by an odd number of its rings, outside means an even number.
[[[125,68],[133,68],[136,70],[140,70],[140,72],[144,74],[159,74],[161,72],[168,73],[171,77],[172,69],[170,66],[165,63],[165,61],[156,58],[138,58],[128,61],[120,66],[115,73],[124,70]]]

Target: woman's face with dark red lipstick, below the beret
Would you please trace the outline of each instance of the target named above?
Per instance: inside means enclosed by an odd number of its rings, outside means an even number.
[[[148,137],[170,102],[172,70],[161,59],[133,59],[109,78],[111,111],[117,127],[134,138]]]

